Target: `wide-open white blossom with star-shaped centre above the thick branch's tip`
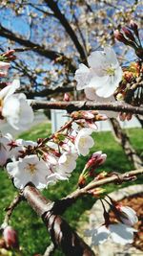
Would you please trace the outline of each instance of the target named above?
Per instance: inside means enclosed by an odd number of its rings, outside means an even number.
[[[38,189],[44,189],[47,186],[47,176],[51,175],[48,164],[35,154],[8,163],[7,172],[13,177],[13,183],[18,189],[23,189],[29,182]]]

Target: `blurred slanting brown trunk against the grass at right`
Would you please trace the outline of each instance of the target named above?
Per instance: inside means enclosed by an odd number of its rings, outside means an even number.
[[[127,155],[128,159],[133,163],[135,169],[139,169],[143,166],[141,158],[137,155],[137,152],[133,149],[130,142],[130,138],[126,134],[126,131],[120,127],[119,122],[111,118],[112,128],[114,136],[117,142],[122,146],[123,151]]]

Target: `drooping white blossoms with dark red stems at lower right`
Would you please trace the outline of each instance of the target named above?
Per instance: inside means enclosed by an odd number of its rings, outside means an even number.
[[[112,200],[112,198],[110,200],[111,202],[105,199],[110,205],[115,220],[112,221],[109,211],[106,210],[103,200],[101,200],[105,222],[96,227],[91,216],[91,229],[85,231],[86,236],[92,237],[92,246],[103,244],[107,240],[123,245],[133,243],[133,233],[137,232],[133,228],[133,225],[138,221],[136,213],[131,207],[122,206],[120,203]]]

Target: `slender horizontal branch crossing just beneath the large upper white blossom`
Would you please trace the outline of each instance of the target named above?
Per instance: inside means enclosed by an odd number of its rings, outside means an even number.
[[[110,110],[143,115],[143,107],[119,103],[96,103],[92,101],[80,102],[44,102],[31,100],[33,109],[67,109],[68,112],[75,110]]]

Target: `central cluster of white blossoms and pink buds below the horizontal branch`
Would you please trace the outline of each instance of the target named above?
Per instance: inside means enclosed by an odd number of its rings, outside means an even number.
[[[59,132],[37,142],[13,140],[10,134],[1,135],[0,165],[6,166],[19,189],[29,182],[44,189],[57,180],[69,179],[78,155],[87,155],[94,145],[91,136],[96,128],[94,122],[105,119],[97,111],[73,112],[72,120]],[[73,128],[72,123],[77,128]]]

